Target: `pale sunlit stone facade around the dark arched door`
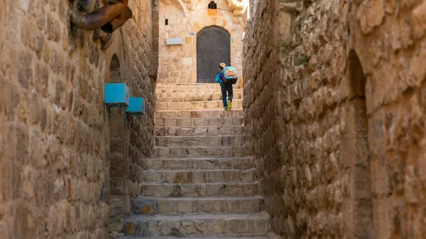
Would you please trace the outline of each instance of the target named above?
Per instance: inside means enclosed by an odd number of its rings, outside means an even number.
[[[216,0],[218,9],[212,10],[210,1],[160,1],[159,83],[197,83],[197,33],[208,26],[219,26],[231,35],[231,65],[242,72],[243,12],[248,4]],[[166,45],[168,38],[182,38],[183,44]]]

